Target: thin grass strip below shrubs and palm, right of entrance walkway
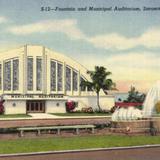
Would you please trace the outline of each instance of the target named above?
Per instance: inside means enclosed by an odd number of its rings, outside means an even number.
[[[108,113],[50,113],[57,116],[110,116]]]

